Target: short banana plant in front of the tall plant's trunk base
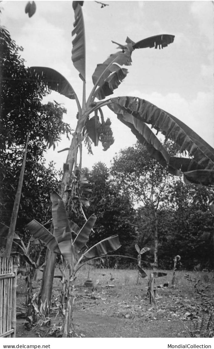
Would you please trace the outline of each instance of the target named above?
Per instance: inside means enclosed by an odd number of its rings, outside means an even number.
[[[71,318],[76,273],[87,261],[113,252],[121,244],[118,235],[114,235],[88,248],[86,243],[94,227],[96,216],[94,214],[90,216],[80,229],[74,222],[69,222],[64,201],[59,194],[55,191],[52,192],[50,194],[50,200],[52,202],[54,235],[36,220],[28,223],[26,228],[32,234],[32,240],[41,240],[50,251],[60,254],[63,258],[61,314],[64,316],[64,325],[62,336],[69,337],[72,333]],[[67,277],[65,274],[66,269],[69,270]],[[50,303],[48,304],[49,307]]]

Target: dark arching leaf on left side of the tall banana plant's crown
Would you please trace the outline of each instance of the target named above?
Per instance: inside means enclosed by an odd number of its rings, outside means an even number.
[[[65,77],[56,70],[48,67],[30,67],[32,77],[41,79],[49,89],[54,90],[65,97],[75,99],[76,93]]]

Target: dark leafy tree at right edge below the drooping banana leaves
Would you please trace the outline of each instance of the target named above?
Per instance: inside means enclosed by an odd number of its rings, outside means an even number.
[[[203,239],[205,232],[213,231],[214,217],[209,211],[213,193],[204,186],[179,181],[170,193],[173,225],[166,236],[163,250],[168,245],[169,256],[182,256],[184,268],[213,268],[213,244]]]

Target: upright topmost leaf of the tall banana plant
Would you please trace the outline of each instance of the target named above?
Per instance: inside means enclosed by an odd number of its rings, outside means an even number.
[[[73,24],[74,29],[72,31],[72,36],[76,34],[76,37],[72,41],[72,62],[74,67],[80,73],[80,78],[86,80],[86,45],[85,45],[85,27],[84,18],[82,14],[82,7],[78,3],[74,7],[74,19]]]

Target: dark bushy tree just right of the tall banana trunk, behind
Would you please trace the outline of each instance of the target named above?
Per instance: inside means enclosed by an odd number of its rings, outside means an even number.
[[[134,209],[129,196],[120,193],[109,177],[107,167],[99,162],[91,171],[84,171],[92,194],[90,206],[86,210],[89,216],[96,212],[96,230],[91,233],[89,245],[95,244],[101,238],[111,236],[112,232],[119,236],[121,248],[119,254],[130,254],[134,246]]]

